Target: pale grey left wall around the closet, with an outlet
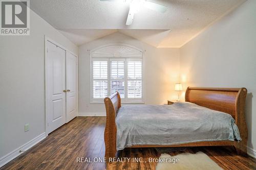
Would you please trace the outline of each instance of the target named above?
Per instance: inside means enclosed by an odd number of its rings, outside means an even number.
[[[44,36],[78,53],[75,44],[33,11],[30,30],[30,36],[0,36],[0,158],[45,132]]]

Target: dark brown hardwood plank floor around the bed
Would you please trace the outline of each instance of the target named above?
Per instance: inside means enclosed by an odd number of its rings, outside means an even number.
[[[155,169],[157,163],[79,163],[77,157],[104,157],[105,117],[77,117],[63,125],[16,159],[0,169]],[[197,147],[186,152],[202,151],[223,169],[256,169],[251,157],[238,156],[231,147]],[[180,152],[170,153],[171,155]],[[155,149],[125,149],[119,157],[159,158]]]

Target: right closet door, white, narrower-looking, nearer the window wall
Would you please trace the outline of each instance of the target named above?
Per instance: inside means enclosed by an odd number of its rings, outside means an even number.
[[[69,52],[66,53],[66,85],[68,123],[77,116],[77,57]]]

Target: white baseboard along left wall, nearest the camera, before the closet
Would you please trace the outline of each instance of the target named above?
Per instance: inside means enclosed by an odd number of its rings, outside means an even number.
[[[27,143],[23,144],[21,147],[15,149],[14,151],[10,152],[9,154],[3,156],[2,158],[0,158],[0,167],[4,166],[5,164],[10,162],[11,160],[16,158],[17,156],[24,153],[24,152],[20,153],[19,152],[20,150],[27,151],[28,149],[33,147],[36,143],[38,143],[39,141],[41,141],[44,138],[46,138],[46,133],[45,132],[38,135],[34,139],[28,141]]]

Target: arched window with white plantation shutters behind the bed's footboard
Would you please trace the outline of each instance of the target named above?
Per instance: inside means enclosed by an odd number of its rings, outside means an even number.
[[[118,91],[123,103],[144,102],[144,53],[130,45],[108,45],[90,53],[91,103]]]

